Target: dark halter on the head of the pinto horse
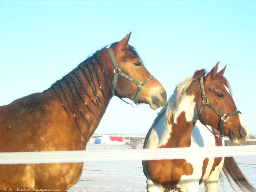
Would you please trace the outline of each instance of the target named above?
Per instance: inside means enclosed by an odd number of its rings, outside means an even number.
[[[201,88],[201,93],[202,93],[202,106],[200,108],[200,111],[199,111],[199,120],[200,122],[202,122],[202,114],[203,114],[203,110],[204,110],[204,107],[207,105],[211,110],[213,110],[216,114],[218,114],[218,116],[220,116],[220,125],[219,125],[219,131],[220,131],[220,135],[222,137],[224,137],[223,135],[223,125],[224,123],[228,120],[228,118],[232,115],[235,115],[235,114],[242,114],[240,111],[234,111],[234,112],[231,112],[231,113],[228,113],[228,114],[223,114],[222,112],[220,112],[219,110],[217,110],[212,104],[209,103],[208,99],[206,98],[206,95],[205,95],[205,92],[204,92],[204,76],[202,76],[200,78],[200,88]]]

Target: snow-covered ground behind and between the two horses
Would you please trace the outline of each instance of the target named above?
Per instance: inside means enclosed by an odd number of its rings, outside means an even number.
[[[127,148],[129,146],[126,145],[88,144],[86,150],[100,152]],[[139,144],[138,148],[142,148],[142,144]],[[239,156],[235,159],[244,175],[256,188],[256,156]],[[241,191],[237,187],[236,190]],[[141,161],[86,162],[80,180],[69,191],[146,192],[146,177]],[[219,186],[218,191],[233,192],[227,180],[224,180],[224,190]],[[200,192],[204,192],[203,184],[200,186]]]

